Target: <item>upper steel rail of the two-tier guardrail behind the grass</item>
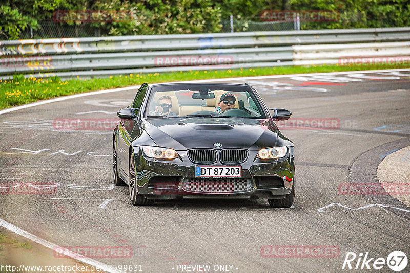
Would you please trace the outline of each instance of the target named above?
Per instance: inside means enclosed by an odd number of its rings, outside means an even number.
[[[0,41],[0,56],[272,47],[410,40],[410,27],[139,35]]]

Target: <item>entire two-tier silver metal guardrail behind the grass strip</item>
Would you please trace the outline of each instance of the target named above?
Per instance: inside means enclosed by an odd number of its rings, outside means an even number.
[[[409,56],[407,41],[410,28],[2,41],[0,78],[16,73],[67,79],[337,63],[343,56]]]

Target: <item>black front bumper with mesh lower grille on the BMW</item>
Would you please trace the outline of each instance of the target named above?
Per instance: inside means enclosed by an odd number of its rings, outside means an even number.
[[[195,178],[195,166],[186,151],[171,161],[146,157],[134,147],[138,193],[147,199],[244,198],[281,199],[291,193],[294,180],[294,147],[279,160],[263,161],[249,151],[240,165],[240,178]],[[200,164],[203,166],[203,164]],[[210,165],[211,166],[211,165]],[[212,166],[231,166],[219,161]]]

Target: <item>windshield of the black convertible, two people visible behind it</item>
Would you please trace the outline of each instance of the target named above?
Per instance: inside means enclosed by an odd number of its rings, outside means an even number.
[[[248,85],[157,85],[152,87],[147,106],[147,118],[265,118],[260,103]]]

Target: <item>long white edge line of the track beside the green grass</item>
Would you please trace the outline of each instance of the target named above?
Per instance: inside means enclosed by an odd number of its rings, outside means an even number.
[[[366,70],[366,71],[340,71],[340,72],[326,72],[326,73],[304,73],[304,74],[288,74],[288,75],[270,75],[270,76],[256,76],[256,77],[237,77],[237,78],[223,78],[223,79],[207,79],[207,80],[192,80],[192,81],[179,81],[172,83],[189,83],[189,82],[221,82],[221,81],[243,81],[243,80],[258,80],[258,79],[275,79],[275,78],[288,78],[288,77],[302,77],[302,76],[320,76],[320,75],[343,75],[343,74],[356,74],[356,73],[381,73],[381,72],[400,72],[400,71],[410,71],[409,69],[383,69],[383,70]],[[154,84],[154,83],[152,83]],[[108,90],[99,90],[87,93],[81,93],[76,95],[70,95],[65,97],[59,97],[55,99],[33,102],[30,104],[20,105],[16,107],[6,108],[0,110],[0,115],[8,112],[17,111],[20,109],[30,108],[38,105],[48,104],[57,101],[65,101],[68,99],[105,94],[111,92],[121,92],[139,88],[140,85],[133,85],[122,88],[108,89]]]

